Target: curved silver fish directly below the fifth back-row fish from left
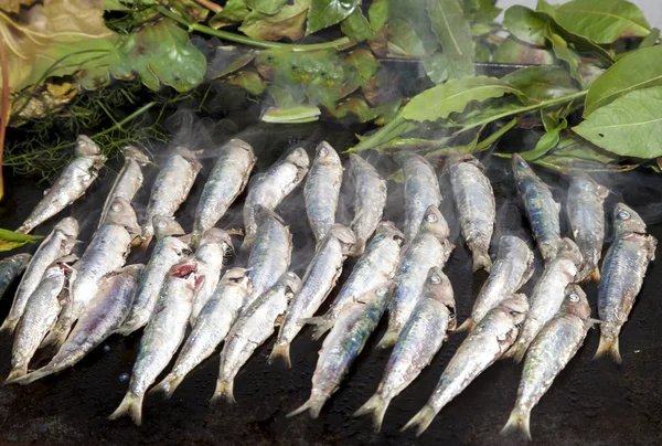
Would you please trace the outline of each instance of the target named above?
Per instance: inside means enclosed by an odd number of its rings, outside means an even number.
[[[250,305],[287,273],[292,255],[292,235],[285,222],[268,208],[257,205],[257,237],[248,256],[248,278],[253,288],[246,297]]]

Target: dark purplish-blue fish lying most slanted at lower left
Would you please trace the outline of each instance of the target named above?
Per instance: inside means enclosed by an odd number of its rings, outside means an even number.
[[[125,266],[99,283],[99,290],[88,305],[57,354],[43,368],[15,380],[29,384],[61,372],[81,361],[119,328],[131,308],[138,277],[145,265]]]

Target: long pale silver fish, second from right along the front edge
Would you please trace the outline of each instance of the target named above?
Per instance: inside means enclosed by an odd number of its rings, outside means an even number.
[[[426,405],[403,427],[423,434],[435,416],[513,344],[526,317],[528,301],[513,295],[492,308],[467,336],[441,373]]]

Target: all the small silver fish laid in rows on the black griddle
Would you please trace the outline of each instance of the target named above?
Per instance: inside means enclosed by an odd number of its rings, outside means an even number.
[[[81,138],[77,158],[21,226],[22,232],[85,192],[104,162],[95,147]],[[195,157],[178,148],[166,159],[139,225],[131,200],[142,184],[141,167],[149,160],[131,148],[125,156],[97,232],[79,259],[72,254],[78,225],[66,217],[32,259],[20,254],[0,265],[0,286],[25,269],[2,327],[17,331],[9,381],[24,384],[62,371],[110,334],[128,334],[147,326],[129,391],[111,415],[129,414],[140,423],[146,392],[180,346],[170,373],[153,389],[171,395],[186,374],[223,343],[213,400],[234,401],[234,379],[257,347],[278,329],[270,360],[281,358],[290,367],[292,341],[305,325],[312,325],[314,339],[329,333],[319,353],[310,399],[290,415],[310,411],[317,417],[383,314],[388,312],[388,328],[378,347],[393,347],[392,354],[375,395],[356,412],[372,414],[378,428],[389,402],[456,331],[453,290],[442,272],[455,246],[439,211],[437,172],[424,158],[410,152],[394,156],[404,173],[401,232],[382,221],[386,181],[370,163],[350,156],[355,202],[354,219],[345,226],[335,220],[343,181],[339,155],[322,142],[310,166],[303,149],[292,150],[248,188],[242,245],[248,259],[244,267],[223,273],[233,243],[227,232],[214,226],[248,183],[256,162],[250,146],[231,140],[220,150],[190,234],[173,215],[201,170]],[[470,318],[457,329],[469,331],[467,339],[428,403],[405,428],[417,427],[420,434],[476,376],[498,359],[512,357],[524,359],[525,364],[517,402],[504,431],[522,428],[530,435],[531,410],[574,357],[592,323],[599,323],[601,330],[598,354],[610,352],[620,361],[618,336],[654,258],[656,241],[647,234],[634,211],[618,204],[613,212],[616,240],[600,275],[607,190],[589,177],[570,179],[567,215],[574,241],[563,238],[560,206],[551,189],[515,155],[517,191],[545,259],[545,269],[526,298],[516,293],[533,275],[534,254],[528,245],[504,235],[493,264],[490,257],[495,204],[483,167],[469,156],[450,158],[446,164],[462,236],[473,253],[473,269],[490,274]],[[83,166],[87,176],[76,173]],[[305,179],[306,210],[317,248],[299,278],[290,270],[291,234],[275,211]],[[154,235],[157,243],[148,264],[124,266],[131,247],[148,245]],[[334,288],[348,256],[359,257],[353,270],[328,310],[314,316]],[[599,320],[590,318],[579,286],[586,279],[599,280]],[[55,357],[26,374],[34,352],[49,344],[58,348]]]

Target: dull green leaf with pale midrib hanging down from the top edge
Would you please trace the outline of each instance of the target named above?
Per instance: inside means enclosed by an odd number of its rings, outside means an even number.
[[[473,45],[471,26],[457,0],[427,0],[427,12],[433,23],[433,31],[450,56],[461,56],[471,60]]]

